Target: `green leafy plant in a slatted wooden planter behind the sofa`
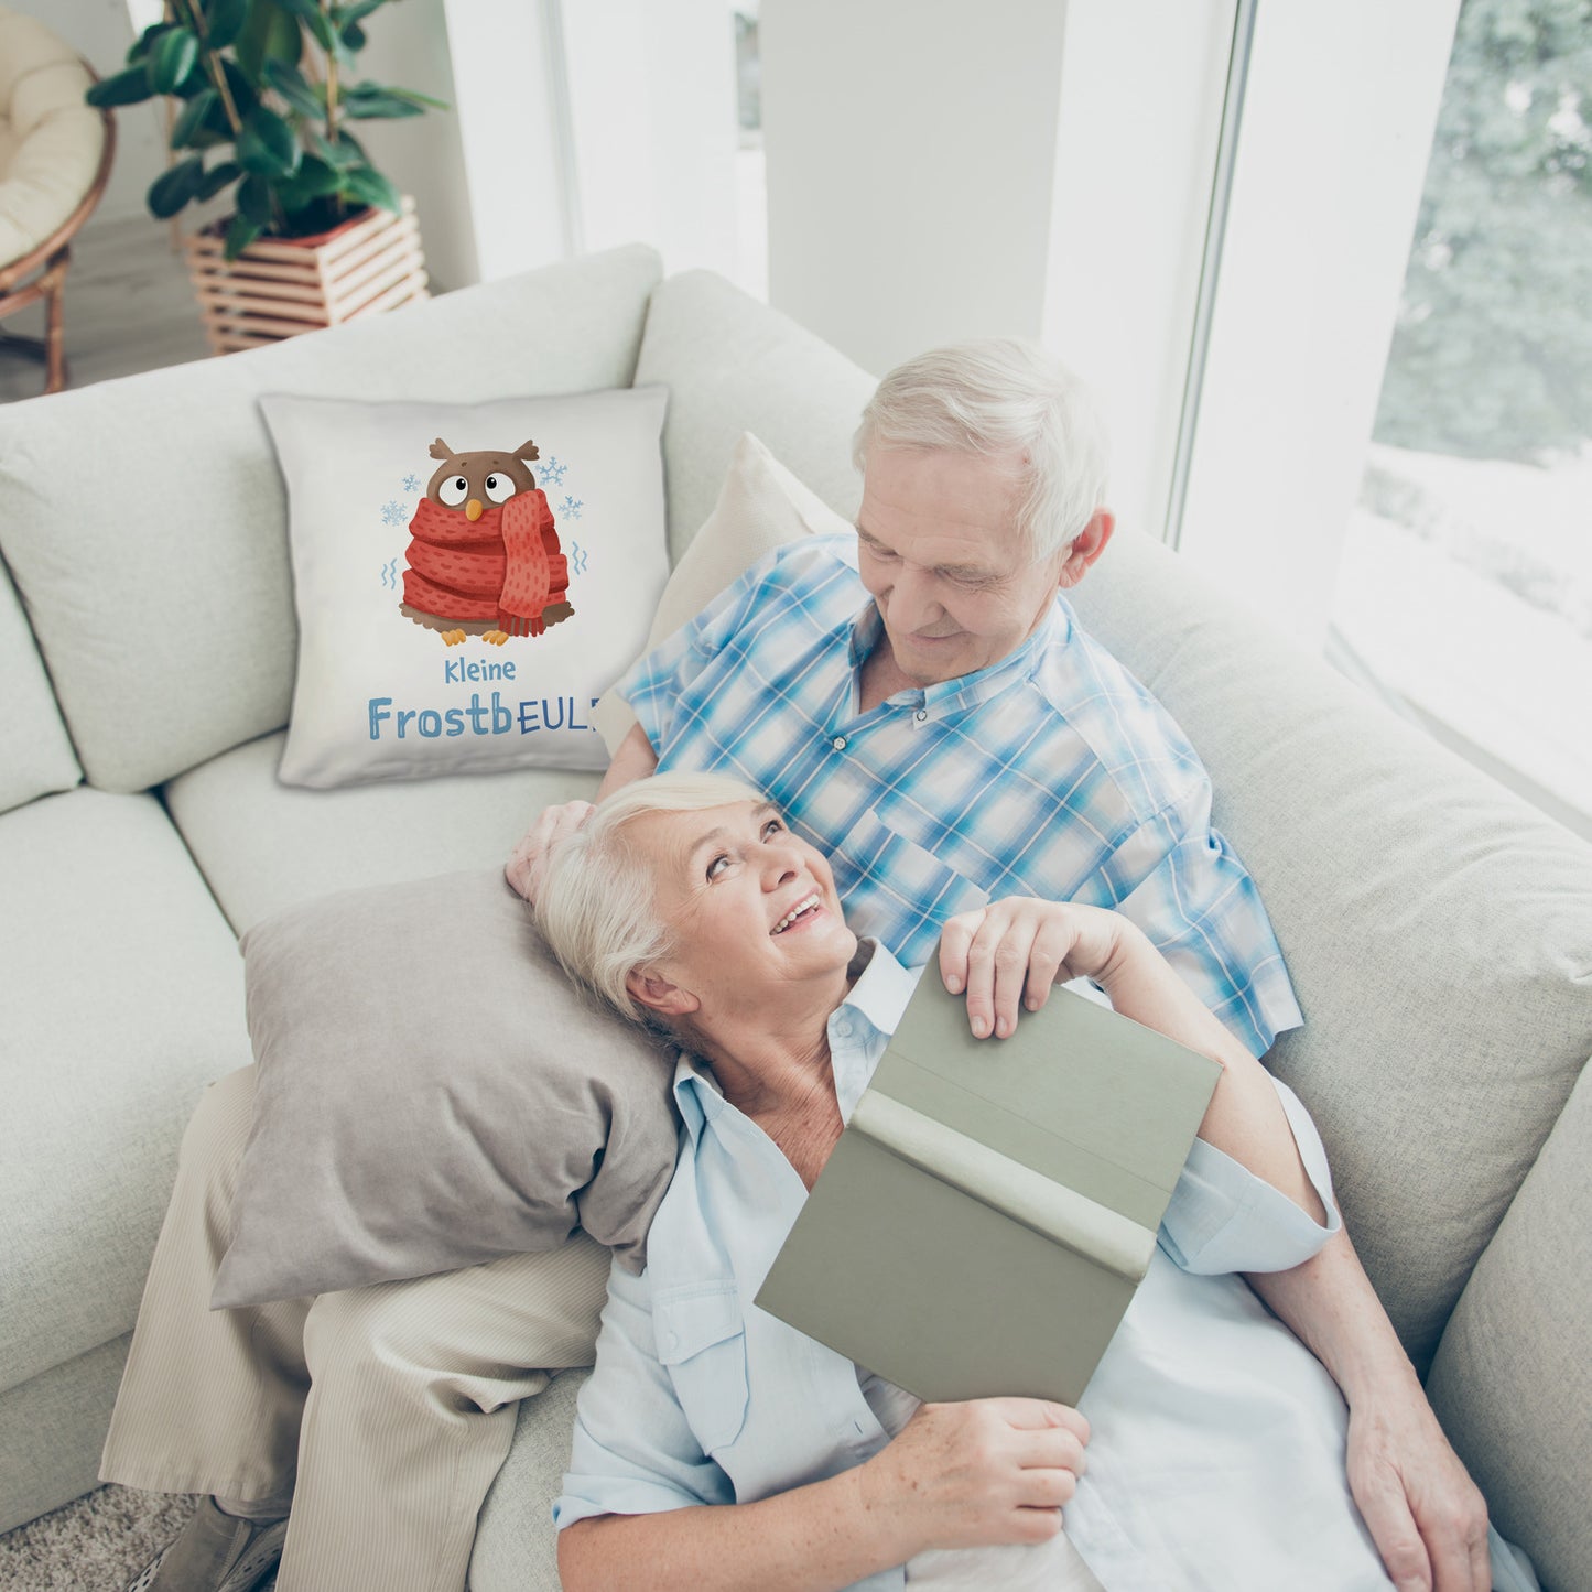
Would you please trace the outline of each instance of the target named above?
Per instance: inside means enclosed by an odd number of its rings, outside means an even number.
[[[232,191],[232,213],[186,240],[212,347],[253,347],[425,298],[414,202],[369,161],[360,121],[441,100],[358,80],[365,21],[387,0],[167,0],[91,105],[166,96],[174,164],[150,210]]]

